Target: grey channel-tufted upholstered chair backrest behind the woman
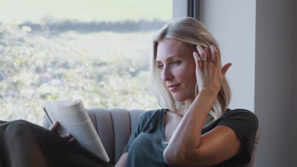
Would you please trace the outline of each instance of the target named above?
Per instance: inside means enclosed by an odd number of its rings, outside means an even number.
[[[145,110],[124,108],[90,108],[87,113],[106,149],[110,159],[110,164],[115,165],[120,159],[122,151],[126,146],[130,133],[138,119]],[[48,128],[50,125],[45,117],[42,120],[42,126]],[[249,164],[242,167],[254,167],[255,151],[259,140],[259,130],[256,136],[253,156]]]

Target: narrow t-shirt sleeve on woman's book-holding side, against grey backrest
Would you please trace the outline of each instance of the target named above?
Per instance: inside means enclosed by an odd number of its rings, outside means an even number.
[[[127,145],[124,147],[122,154],[129,151],[129,147],[130,147],[131,143],[143,131],[143,128],[144,128],[145,124],[147,123],[147,121],[148,121],[148,111],[142,113],[139,116],[139,118],[137,119],[137,121],[133,127],[133,130],[130,134],[129,141],[128,141]]]

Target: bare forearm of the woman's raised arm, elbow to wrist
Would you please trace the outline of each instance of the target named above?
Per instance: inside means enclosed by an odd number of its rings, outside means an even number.
[[[180,157],[187,151],[196,149],[200,144],[204,122],[214,102],[212,92],[201,91],[177,126],[164,152]]]

